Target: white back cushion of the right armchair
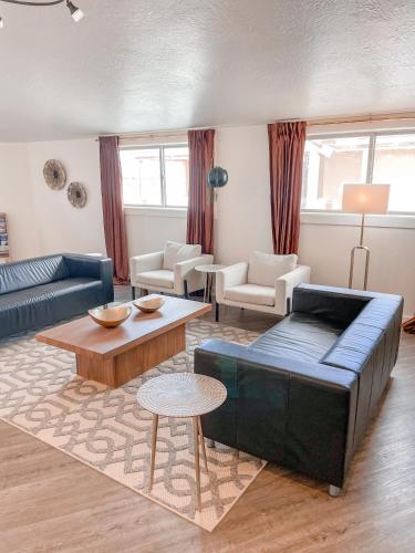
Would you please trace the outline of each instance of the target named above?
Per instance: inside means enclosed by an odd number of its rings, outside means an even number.
[[[297,260],[298,257],[294,253],[274,255],[255,251],[249,258],[248,282],[273,288],[277,279],[295,269]]]

